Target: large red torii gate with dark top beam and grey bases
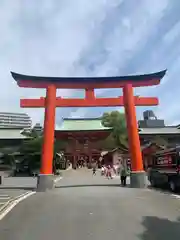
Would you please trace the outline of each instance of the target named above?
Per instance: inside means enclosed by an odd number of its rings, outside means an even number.
[[[144,169],[137,129],[135,106],[158,105],[158,98],[138,97],[133,95],[133,87],[158,85],[166,70],[123,77],[38,77],[11,72],[19,87],[45,88],[46,97],[39,99],[21,99],[24,108],[45,108],[44,138],[42,147],[41,170],[37,189],[45,191],[53,188],[53,145],[56,107],[109,107],[124,106],[128,130],[129,149],[131,153],[131,186],[144,187]],[[56,97],[56,89],[85,89],[84,99],[63,99]],[[123,97],[96,98],[94,89],[123,88]]]

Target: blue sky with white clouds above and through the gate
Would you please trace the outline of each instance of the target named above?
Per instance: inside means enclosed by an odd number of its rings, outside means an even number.
[[[135,89],[159,96],[153,107],[166,124],[180,123],[179,0],[1,0],[0,111],[27,112],[43,122],[42,109],[20,109],[20,97],[44,90],[20,89],[10,71],[42,76],[116,76],[168,69],[160,86]],[[121,89],[97,90],[119,96]],[[59,90],[58,96],[83,96]],[[123,108],[115,108],[123,111]],[[147,108],[137,108],[137,118]],[[149,108],[148,108],[149,109]],[[62,117],[99,117],[112,108],[57,109]]]

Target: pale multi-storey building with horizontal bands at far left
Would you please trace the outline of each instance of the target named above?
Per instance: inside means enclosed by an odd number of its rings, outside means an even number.
[[[26,113],[0,112],[0,129],[30,129],[31,118]]]

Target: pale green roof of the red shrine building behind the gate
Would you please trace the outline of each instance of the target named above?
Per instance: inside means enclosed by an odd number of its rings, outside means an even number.
[[[101,124],[100,118],[65,118],[61,127],[56,131],[102,131],[110,129]]]

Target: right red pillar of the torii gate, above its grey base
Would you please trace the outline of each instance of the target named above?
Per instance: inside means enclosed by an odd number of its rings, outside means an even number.
[[[136,110],[134,104],[132,84],[126,84],[123,87],[123,97],[128,129],[132,172],[143,172],[143,161],[137,128]]]

